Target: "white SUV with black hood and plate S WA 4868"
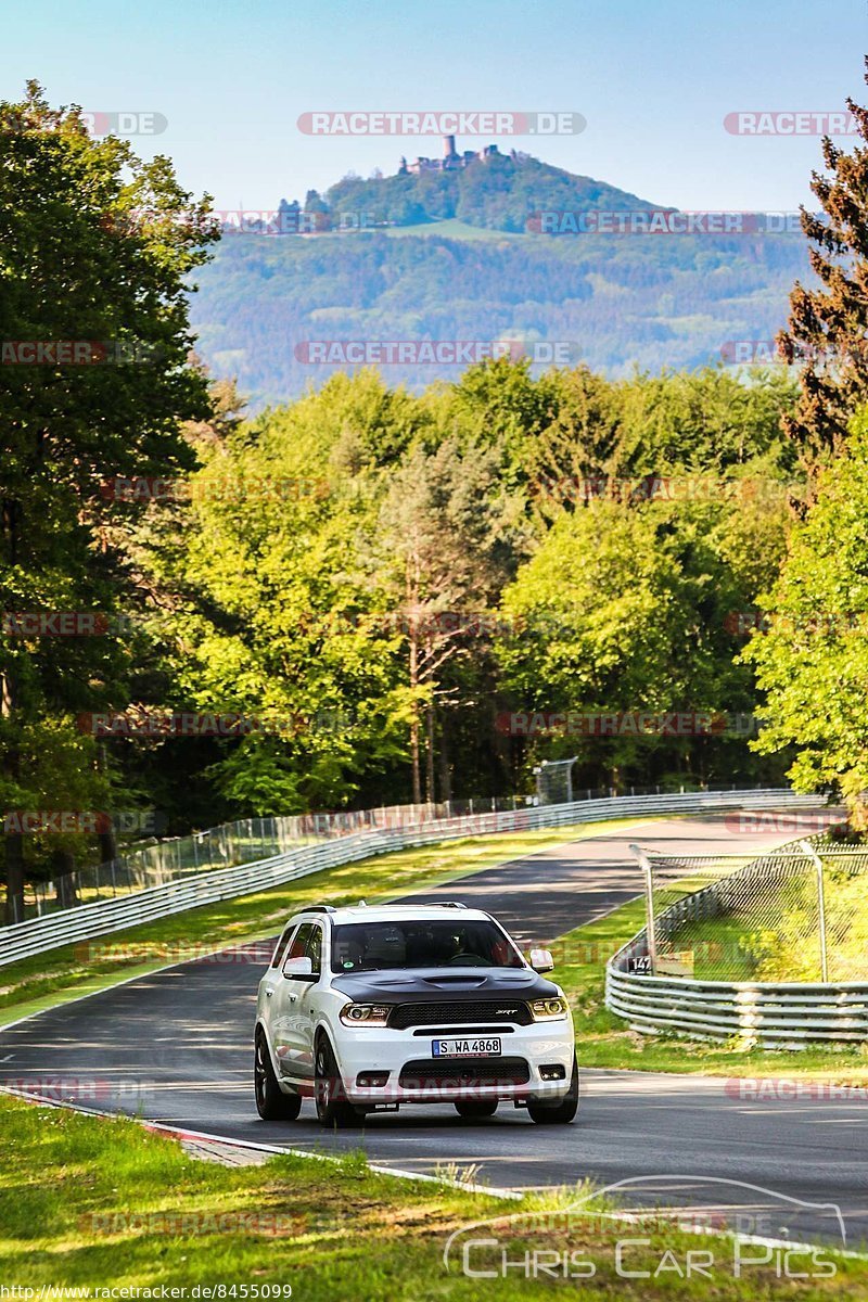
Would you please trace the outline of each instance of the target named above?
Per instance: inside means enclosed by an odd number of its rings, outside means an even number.
[[[461,904],[298,913],[259,984],[259,1116],[316,1100],[349,1126],[402,1103],[489,1117],[502,1100],[540,1125],[575,1116],[573,1018],[548,950],[528,963],[500,923]]]

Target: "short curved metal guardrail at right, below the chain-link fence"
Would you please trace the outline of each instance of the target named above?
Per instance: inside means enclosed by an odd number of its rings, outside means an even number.
[[[824,848],[821,853],[832,859],[855,858],[846,849]],[[782,846],[780,853],[763,855],[685,896],[656,921],[656,935],[671,935],[683,919],[721,915],[738,900],[746,879],[760,870],[770,870],[768,880],[786,880],[795,858],[790,846]],[[868,982],[695,980],[636,971],[649,949],[648,930],[643,928],[606,963],[606,1008],[635,1031],[734,1039],[763,1048],[868,1040]]]

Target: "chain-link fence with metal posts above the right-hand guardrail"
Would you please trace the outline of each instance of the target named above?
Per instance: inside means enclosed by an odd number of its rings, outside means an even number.
[[[721,982],[868,979],[868,845],[829,833],[760,855],[645,855],[635,971]]]

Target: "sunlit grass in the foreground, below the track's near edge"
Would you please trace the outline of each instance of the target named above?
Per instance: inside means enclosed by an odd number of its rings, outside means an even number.
[[[156,1289],[159,1297],[161,1288],[225,1285],[224,1295],[232,1298],[252,1297],[255,1285],[289,1285],[298,1302],[755,1302],[868,1293],[865,1260],[835,1258],[837,1273],[825,1280],[778,1281],[773,1266],[734,1279],[729,1238],[698,1238],[660,1221],[638,1230],[599,1215],[558,1217],[557,1210],[587,1187],[504,1203],[375,1174],[360,1154],[340,1163],[288,1155],[262,1167],[226,1168],[195,1161],[176,1141],[133,1121],[104,1121],[1,1095],[0,1135],[0,1284],[7,1286]],[[505,1220],[519,1207],[521,1213],[537,1213],[535,1226]],[[470,1279],[461,1271],[461,1256],[448,1272],[442,1254],[449,1236],[491,1217],[504,1220],[474,1237],[497,1237],[509,1260],[522,1259],[528,1249],[575,1253],[593,1264],[593,1279],[535,1280],[515,1269],[505,1279]],[[648,1242],[630,1249],[629,1268],[653,1271],[665,1260],[658,1281],[617,1275],[616,1240],[636,1233]],[[683,1267],[688,1251],[709,1249],[711,1280],[673,1273],[673,1260]],[[492,1268],[497,1251],[476,1250],[471,1267]],[[234,1294],[228,1292],[233,1285]]]

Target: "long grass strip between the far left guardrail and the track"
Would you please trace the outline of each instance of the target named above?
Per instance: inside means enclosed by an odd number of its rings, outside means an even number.
[[[210,949],[276,935],[306,904],[389,900],[565,841],[605,836],[638,819],[576,823],[556,829],[497,833],[449,841],[325,868],[258,894],[189,909],[92,941],[65,945],[0,967],[0,1025],[29,1017],[65,999],[142,976],[156,967],[195,958]]]

